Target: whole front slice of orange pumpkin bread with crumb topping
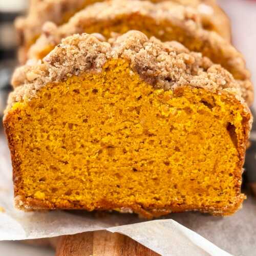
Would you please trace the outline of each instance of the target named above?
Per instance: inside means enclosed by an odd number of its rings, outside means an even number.
[[[4,118],[19,208],[240,208],[251,116],[219,65],[131,31],[68,37],[24,69]]]

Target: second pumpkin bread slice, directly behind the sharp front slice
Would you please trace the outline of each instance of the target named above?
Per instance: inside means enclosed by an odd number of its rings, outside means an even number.
[[[162,41],[177,40],[189,50],[201,52],[221,64],[240,80],[243,97],[251,104],[253,87],[241,53],[217,33],[203,29],[194,9],[169,1],[159,4],[136,0],[96,3],[78,12],[67,24],[59,27],[45,24],[44,34],[31,47],[28,56],[41,59],[59,44],[61,38],[74,33],[100,33],[108,39],[112,32],[123,34],[133,29]],[[15,79],[13,85],[19,85]]]

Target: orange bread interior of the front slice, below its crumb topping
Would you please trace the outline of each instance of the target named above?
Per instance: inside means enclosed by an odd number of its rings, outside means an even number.
[[[232,214],[244,199],[248,118],[233,96],[155,89],[129,61],[110,59],[8,112],[18,206]]]

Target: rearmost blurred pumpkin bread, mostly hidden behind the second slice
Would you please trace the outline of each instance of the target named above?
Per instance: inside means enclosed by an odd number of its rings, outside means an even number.
[[[131,0],[132,1],[132,0]],[[152,0],[151,2],[163,2]],[[166,0],[190,6],[198,10],[202,25],[207,30],[216,31],[230,41],[230,24],[226,14],[215,0]],[[77,11],[103,0],[31,0],[28,15],[18,17],[15,27],[19,38],[18,57],[21,63],[27,60],[27,52],[42,32],[42,25],[51,21],[57,25],[66,23]]]

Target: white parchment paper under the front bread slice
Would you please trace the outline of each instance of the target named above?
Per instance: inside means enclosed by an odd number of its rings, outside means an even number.
[[[11,161],[3,134],[0,136],[0,207],[0,240],[46,238],[106,229],[125,234],[161,255],[219,256],[232,253],[249,256],[256,252],[256,200],[250,196],[242,210],[225,218],[185,212],[144,221],[136,215],[116,212],[99,217],[84,211],[16,210]]]

